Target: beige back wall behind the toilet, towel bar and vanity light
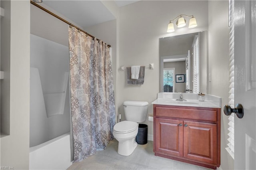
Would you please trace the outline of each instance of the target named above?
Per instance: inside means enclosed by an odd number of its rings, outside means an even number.
[[[198,27],[177,29],[167,33],[170,20],[180,14],[194,15]],[[148,113],[153,113],[151,104],[159,92],[159,38],[208,30],[208,1],[139,1],[120,8],[120,62],[124,65],[145,65],[144,85],[129,86],[126,69],[118,71],[118,113],[125,120],[122,103],[126,100],[147,101]],[[149,64],[154,63],[154,70]],[[153,123],[148,125],[148,134],[153,134]]]

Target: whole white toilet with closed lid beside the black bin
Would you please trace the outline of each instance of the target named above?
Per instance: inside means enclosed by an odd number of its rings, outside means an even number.
[[[124,115],[126,121],[114,126],[113,135],[118,141],[118,154],[129,156],[137,147],[135,137],[138,134],[138,123],[146,121],[148,102],[124,101]]]

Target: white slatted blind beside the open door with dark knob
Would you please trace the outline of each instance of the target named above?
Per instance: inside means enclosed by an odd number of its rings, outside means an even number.
[[[229,102],[230,107],[234,108],[234,0],[229,1],[229,48],[230,48],[230,64],[229,64]],[[228,147],[226,150],[234,159],[234,113],[228,117]]]

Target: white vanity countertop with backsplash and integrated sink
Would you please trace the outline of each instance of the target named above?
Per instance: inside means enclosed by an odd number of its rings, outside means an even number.
[[[221,98],[212,95],[205,95],[205,101],[198,101],[198,95],[194,93],[182,93],[186,101],[176,101],[180,93],[158,93],[158,98],[152,102],[155,105],[173,105],[173,106],[190,106],[190,107],[211,107],[221,108]],[[170,98],[169,98],[170,97]]]

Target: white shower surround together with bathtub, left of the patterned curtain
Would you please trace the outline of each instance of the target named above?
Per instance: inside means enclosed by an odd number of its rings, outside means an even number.
[[[72,162],[68,47],[32,34],[30,41],[30,169],[65,169]]]

